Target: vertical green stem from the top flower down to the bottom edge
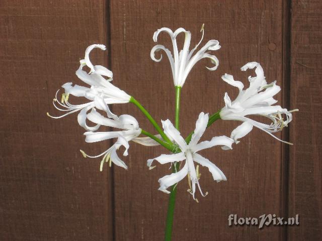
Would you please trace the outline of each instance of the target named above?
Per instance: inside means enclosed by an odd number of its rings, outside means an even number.
[[[180,92],[181,92],[181,87],[176,86],[175,127],[178,131],[179,131],[179,112],[180,112]],[[176,173],[178,171],[179,171],[179,163],[175,162],[174,165],[172,166],[172,173]],[[169,205],[168,205],[168,213],[167,213],[167,221],[166,221],[166,234],[165,234],[166,241],[171,241],[173,217],[174,217],[175,204],[176,204],[176,194],[177,194],[177,184],[171,187],[171,193],[169,196]]]

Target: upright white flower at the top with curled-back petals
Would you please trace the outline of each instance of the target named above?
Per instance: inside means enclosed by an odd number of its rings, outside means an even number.
[[[211,62],[215,65],[212,68],[206,67],[207,69],[216,70],[218,67],[219,61],[218,61],[217,57],[214,55],[210,55],[209,53],[206,52],[208,50],[220,49],[220,45],[217,40],[208,41],[194,56],[192,56],[194,51],[197,49],[197,47],[200,45],[200,43],[203,39],[203,35],[204,35],[203,26],[204,25],[202,25],[202,28],[201,28],[201,32],[202,32],[201,40],[191,51],[189,51],[191,33],[189,31],[186,31],[183,28],[179,28],[175,32],[172,32],[172,30],[169,28],[161,28],[161,29],[158,29],[153,35],[154,42],[157,42],[157,36],[159,35],[160,32],[166,32],[171,37],[172,44],[173,44],[174,58],[172,56],[171,51],[169,49],[166,49],[165,46],[163,46],[163,45],[155,45],[151,49],[150,55],[151,55],[152,60],[154,60],[156,62],[160,62],[162,60],[162,55],[159,59],[157,59],[157,58],[155,58],[154,53],[157,51],[160,51],[160,50],[163,50],[166,52],[166,54],[169,58],[169,61],[170,61],[175,86],[182,87],[184,85],[186,78],[187,78],[190,70],[192,69],[192,67],[199,60],[201,60],[203,58],[209,58],[211,60]],[[184,42],[183,50],[181,50],[179,53],[176,38],[180,33],[185,33],[185,42]]]

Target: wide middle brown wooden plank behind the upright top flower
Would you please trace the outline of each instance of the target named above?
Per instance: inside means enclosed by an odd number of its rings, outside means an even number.
[[[251,72],[239,68],[250,61],[262,64],[269,82],[283,84],[283,2],[282,1],[113,1],[111,3],[111,47],[114,81],[137,98],[160,119],[174,121],[174,88],[169,62],[154,63],[150,49],[152,35],[161,27],[184,27],[192,32],[192,46],[200,39],[205,23],[205,40],[217,39],[222,48],[217,71],[207,71],[206,61],[192,70],[182,90],[181,130],[193,130],[201,111],[215,112],[223,106],[225,91],[236,93],[220,76],[230,73],[244,80]],[[182,38],[183,40],[183,38]],[[170,45],[169,37],[160,35],[160,44]],[[233,96],[233,94],[231,94]],[[281,100],[281,93],[278,95]],[[142,114],[130,104],[116,105],[117,113],[130,113],[140,126],[151,130]],[[207,131],[206,139],[230,135],[238,125],[218,122]],[[228,215],[258,217],[263,213],[283,214],[281,203],[282,144],[267,134],[254,130],[234,150],[214,148],[203,152],[228,178],[216,184],[202,169],[201,185],[209,191],[197,204],[187,193],[188,185],[178,186],[174,240],[278,240],[284,229],[257,226],[228,226]],[[166,153],[162,148],[143,148],[132,144],[129,166],[115,168],[116,240],[162,240],[168,195],[157,191],[157,179],[169,174],[168,166],[157,165],[148,171],[146,160]],[[283,169],[284,170],[284,169]]]

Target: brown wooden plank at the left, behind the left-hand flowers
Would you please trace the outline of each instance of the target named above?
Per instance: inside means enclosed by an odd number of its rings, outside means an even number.
[[[51,103],[87,46],[106,43],[106,1],[2,1],[0,8],[0,239],[112,240],[110,171],[79,149],[76,115]],[[106,64],[106,53],[92,54]]]

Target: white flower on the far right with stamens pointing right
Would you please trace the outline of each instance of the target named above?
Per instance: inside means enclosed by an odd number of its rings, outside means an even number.
[[[288,123],[292,121],[291,112],[298,111],[298,109],[289,111],[285,108],[282,108],[280,105],[272,105],[277,102],[273,96],[277,94],[281,88],[280,86],[276,85],[276,81],[267,84],[263,68],[257,62],[247,63],[240,69],[242,71],[246,71],[247,69],[253,69],[255,67],[255,73],[257,76],[248,77],[250,87],[246,90],[243,90],[244,84],[240,81],[235,81],[232,75],[225,74],[221,77],[228,84],[237,87],[239,89],[239,94],[235,100],[231,101],[227,92],[225,93],[225,107],[223,107],[220,111],[220,118],[244,122],[231,133],[231,138],[234,139],[235,143],[238,143],[237,140],[239,138],[242,138],[250,133],[253,129],[253,126],[255,126],[273,136],[277,140],[291,144],[278,139],[272,135],[272,133],[281,131],[283,127],[287,127]],[[249,117],[246,117],[248,115],[265,116],[269,118],[272,123],[270,125],[260,123]],[[282,115],[285,115],[285,120]]]

